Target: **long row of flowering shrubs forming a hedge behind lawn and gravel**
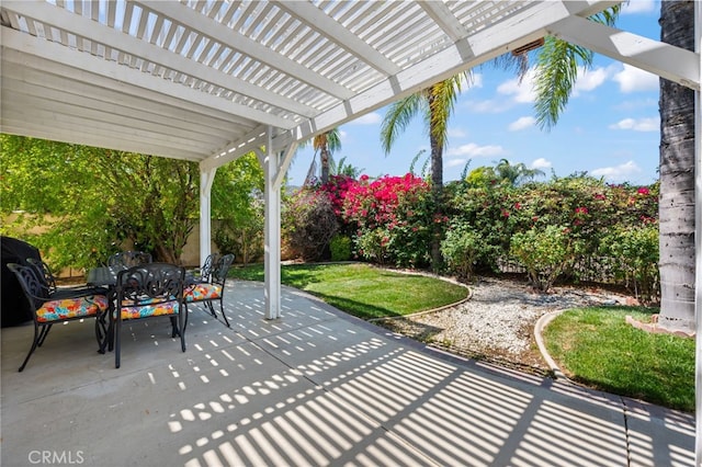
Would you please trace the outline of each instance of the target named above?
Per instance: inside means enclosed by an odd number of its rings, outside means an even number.
[[[358,181],[337,175],[305,195],[325,197],[326,208],[313,197],[294,200],[287,224],[292,235],[302,237],[298,248],[316,244],[308,257],[328,254],[330,232],[336,231],[335,251],[342,257],[349,241],[342,239],[349,238],[356,258],[423,267],[430,263],[432,240],[441,236],[448,271],[463,280],[487,269],[498,272],[517,260],[544,291],[558,277],[615,280],[632,285],[644,299],[656,296],[657,183],[612,185],[584,174],[519,186],[484,179],[448,184],[439,209],[428,183],[410,173]],[[321,217],[306,217],[313,206]]]

